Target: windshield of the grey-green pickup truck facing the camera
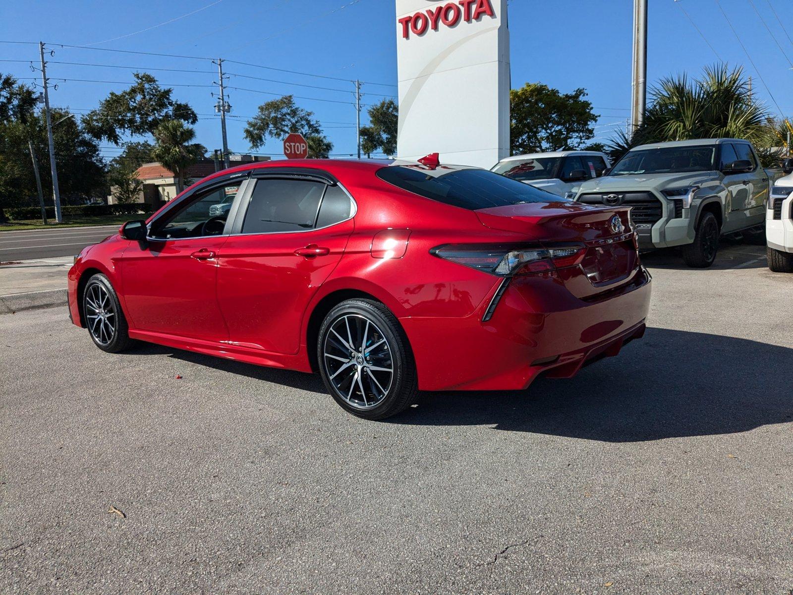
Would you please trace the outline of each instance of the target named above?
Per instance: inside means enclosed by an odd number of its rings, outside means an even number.
[[[634,149],[623,155],[609,175],[675,174],[714,171],[714,146]]]

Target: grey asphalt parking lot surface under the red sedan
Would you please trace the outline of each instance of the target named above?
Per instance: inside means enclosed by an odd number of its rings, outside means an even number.
[[[791,593],[793,275],[743,244],[646,263],[618,357],[385,422],[311,375],[0,317],[0,591]]]

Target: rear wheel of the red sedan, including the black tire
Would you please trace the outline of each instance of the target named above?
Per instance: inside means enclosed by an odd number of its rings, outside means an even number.
[[[351,299],[331,309],[320,326],[316,357],[328,392],[348,413],[382,420],[416,401],[408,337],[379,301]]]

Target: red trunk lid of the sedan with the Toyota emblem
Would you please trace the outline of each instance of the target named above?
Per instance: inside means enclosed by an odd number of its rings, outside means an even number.
[[[527,241],[546,248],[555,244],[584,244],[586,252],[580,265],[560,269],[559,276],[578,298],[591,298],[630,282],[638,270],[629,210],[578,202],[533,202],[479,209],[474,213],[488,228],[518,232]]]

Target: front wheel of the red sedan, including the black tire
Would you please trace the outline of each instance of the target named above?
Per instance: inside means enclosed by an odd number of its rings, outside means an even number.
[[[116,290],[104,274],[88,279],[82,290],[81,307],[88,334],[102,351],[118,353],[134,344]]]

